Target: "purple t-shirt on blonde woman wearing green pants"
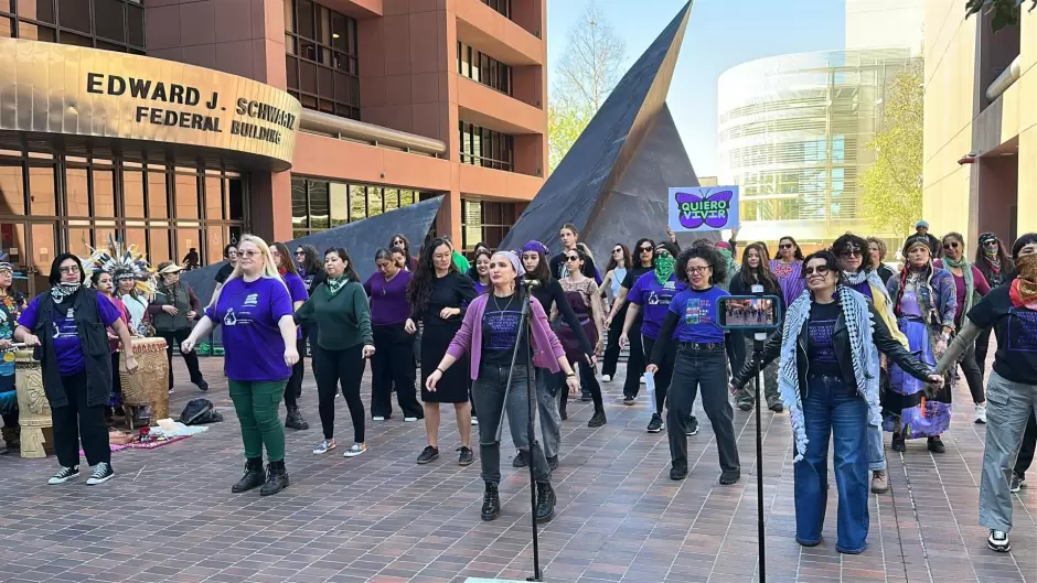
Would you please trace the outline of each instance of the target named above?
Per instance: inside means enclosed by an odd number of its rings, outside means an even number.
[[[291,376],[278,322],[292,312],[291,295],[279,279],[237,278],[220,290],[216,305],[205,309],[205,315],[223,324],[228,379],[269,382]]]

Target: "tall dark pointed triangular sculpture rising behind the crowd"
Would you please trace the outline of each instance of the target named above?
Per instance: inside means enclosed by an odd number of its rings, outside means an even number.
[[[691,8],[684,6],[612,89],[501,248],[536,239],[557,251],[564,223],[596,252],[665,237],[667,188],[698,185],[665,104]]]

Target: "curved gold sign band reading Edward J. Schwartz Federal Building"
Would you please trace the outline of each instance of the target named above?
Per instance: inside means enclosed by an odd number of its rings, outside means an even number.
[[[0,39],[0,132],[178,144],[287,170],[301,111],[287,93],[237,75]]]

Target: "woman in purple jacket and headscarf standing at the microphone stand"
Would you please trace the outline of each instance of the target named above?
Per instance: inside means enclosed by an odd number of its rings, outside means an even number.
[[[436,370],[428,376],[426,388],[436,391],[443,373],[466,353],[471,355],[472,397],[482,422],[479,423],[479,456],[482,479],[487,483],[482,519],[493,520],[501,512],[498,484],[501,482],[501,443],[498,429],[502,413],[507,413],[512,441],[520,450],[530,450],[530,401],[526,382],[532,374],[524,354],[532,354],[533,364],[554,373],[565,371],[569,395],[579,388],[576,373],[565,357],[562,343],[550,330],[547,314],[536,298],[530,299],[533,337],[518,330],[524,292],[516,280],[525,273],[518,256],[499,251],[490,261],[492,290],[475,298],[464,313],[461,330],[447,348]],[[516,348],[517,345],[517,348]],[[518,357],[512,367],[512,354]],[[510,375],[511,374],[511,375]],[[509,376],[511,382],[509,384]],[[539,444],[533,444],[533,474],[536,478],[536,520],[547,522],[555,515],[555,492],[550,487],[550,467]]]

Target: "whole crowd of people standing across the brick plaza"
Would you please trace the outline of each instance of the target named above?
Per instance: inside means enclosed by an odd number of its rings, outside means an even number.
[[[1011,493],[1025,483],[1037,441],[1037,234],[1011,248],[983,234],[970,262],[962,235],[937,238],[921,222],[898,253],[902,264],[895,266],[885,262],[886,245],[874,237],[846,234],[809,255],[783,237],[771,255],[762,241],[739,253],[737,235],[682,249],[667,229],[666,240],[642,238],[632,252],[617,242],[603,274],[569,224],[559,229],[560,252],[552,255],[536,240],[495,251],[479,244],[471,262],[448,237],[431,238],[414,253],[407,238],[395,235],[375,252],[377,271],[366,280],[346,249],[321,256],[310,246],[291,250],[245,236],[225,249],[227,264],[204,307],[180,282],[182,267],[167,261],[151,269],[117,245],[86,261],[58,257],[51,290],[29,303],[11,294],[11,268],[0,260],[0,349],[12,342],[38,347],[60,464],[52,484],[78,474],[81,441],[95,467],[89,483],[114,475],[105,413],[119,404],[113,370],[120,358],[128,371],[136,369],[131,336],[165,338],[170,359],[179,343],[191,382],[205,391],[194,348],[222,326],[246,457],[233,492],[260,488],[268,496],[289,485],[285,429],[309,429],[298,404],[309,355],[322,430],[313,454],[338,447],[340,391],[353,431],[352,444],[343,445],[346,457],[367,451],[368,420],[393,419],[395,395],[404,422],[425,422],[427,445],[416,462],[437,461],[441,408],[451,404],[462,466],[475,460],[471,432],[478,428],[482,518],[493,520],[501,510],[506,415],[517,450],[513,465],[532,466],[536,517],[547,521],[555,514],[550,473],[559,463],[566,403],[582,392],[594,403],[587,425],[607,424],[602,384],[617,378],[626,347],[623,403],[635,404],[642,385],[648,388],[646,431],[669,430],[673,479],[688,474],[699,395],[716,438],[721,485],[741,478],[728,391],[741,411],[765,404],[774,413],[788,410],[797,540],[803,546],[821,541],[833,442],[836,547],[844,553],[867,546],[869,490],[889,489],[883,434],[890,433],[896,452],[922,438],[933,454],[945,452],[941,436],[960,367],[975,422],[988,423],[981,522],[990,529],[990,548],[1008,551]],[[753,361],[752,334],[725,330],[718,313],[723,298],[757,287],[778,299],[782,316],[760,363]],[[525,300],[528,327],[520,326]],[[987,374],[992,332],[997,349]],[[362,398],[368,360],[370,411]],[[18,421],[8,363],[0,364],[0,413],[10,451]],[[753,379],[763,402],[748,387]],[[526,382],[535,386],[542,441],[528,431]]]

